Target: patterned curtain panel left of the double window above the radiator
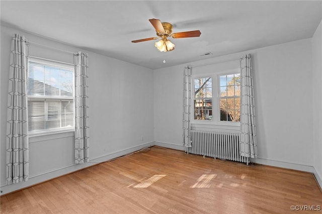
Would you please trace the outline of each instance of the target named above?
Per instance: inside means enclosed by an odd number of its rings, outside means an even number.
[[[184,70],[183,82],[183,145],[191,147],[190,116],[191,116],[191,68]]]

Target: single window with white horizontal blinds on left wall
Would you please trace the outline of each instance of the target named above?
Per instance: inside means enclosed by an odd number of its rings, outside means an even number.
[[[27,100],[31,134],[73,130],[73,65],[30,56]]]

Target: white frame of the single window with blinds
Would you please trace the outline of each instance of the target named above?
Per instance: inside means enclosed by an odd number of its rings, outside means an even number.
[[[60,69],[67,69],[67,70],[72,70],[72,82],[73,82],[73,93],[72,96],[50,96],[50,95],[29,95],[29,87],[28,87],[28,68],[29,68],[29,63],[38,63],[41,65],[45,66],[50,66],[50,67],[56,67]],[[74,64],[71,63],[66,63],[66,62],[61,62],[61,61],[56,61],[56,60],[51,60],[51,59],[46,59],[46,58],[41,58],[41,57],[36,57],[36,56],[28,56],[27,60],[27,106],[29,105],[29,101],[44,101],[44,111],[47,111],[47,114],[44,116],[44,121],[52,121],[52,120],[61,120],[61,108],[58,109],[58,119],[50,119],[48,118],[48,102],[50,101],[59,101],[60,106],[63,101],[72,101],[75,103],[75,70],[74,70]],[[46,102],[47,101],[47,102]],[[47,104],[46,104],[47,103]],[[28,110],[28,117],[29,117],[29,110]],[[73,118],[75,117],[75,108],[73,105]],[[61,123],[61,122],[60,122]],[[50,135],[55,135],[55,134],[64,134],[64,133],[74,133],[75,131],[75,122],[73,123],[72,127],[60,127],[60,128],[52,128],[52,129],[45,129],[45,130],[36,130],[36,131],[29,131],[28,127],[28,133],[29,137],[37,137],[37,136],[50,136]],[[65,135],[65,134],[64,134]],[[69,134],[68,134],[69,136]],[[52,137],[50,137],[52,138]],[[55,138],[54,138],[55,139]]]

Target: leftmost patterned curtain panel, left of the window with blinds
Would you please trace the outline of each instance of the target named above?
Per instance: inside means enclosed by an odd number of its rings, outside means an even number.
[[[27,181],[29,143],[26,39],[15,34],[11,43],[7,118],[7,184]]]

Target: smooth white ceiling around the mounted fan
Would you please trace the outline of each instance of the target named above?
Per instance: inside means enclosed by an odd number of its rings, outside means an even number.
[[[311,38],[322,1],[1,1],[3,25],[49,37],[151,69]],[[195,38],[171,39],[159,52],[148,21],[173,32],[200,30]],[[211,52],[210,56],[200,56]],[[163,63],[163,60],[167,63]]]

